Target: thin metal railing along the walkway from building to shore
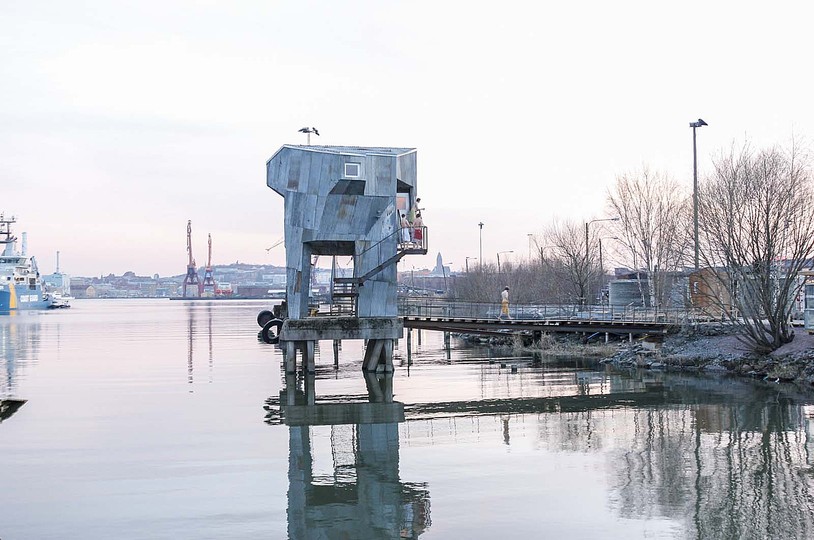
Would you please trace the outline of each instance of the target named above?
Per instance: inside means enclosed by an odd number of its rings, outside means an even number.
[[[437,298],[399,297],[399,315],[411,317],[450,317],[497,319],[496,302],[445,301]],[[645,308],[579,304],[511,304],[509,315],[518,320],[584,320],[658,322],[683,325],[694,320],[693,311],[683,308]]]

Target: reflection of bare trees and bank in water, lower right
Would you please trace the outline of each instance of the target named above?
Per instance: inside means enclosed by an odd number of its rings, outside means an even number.
[[[697,538],[814,538],[809,409],[768,385],[661,382],[660,406],[541,415],[541,444],[608,455],[623,518],[683,521]]]

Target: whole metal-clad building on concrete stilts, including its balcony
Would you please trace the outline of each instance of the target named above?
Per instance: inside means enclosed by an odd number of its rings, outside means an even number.
[[[314,371],[318,340],[365,339],[363,368],[390,371],[398,318],[396,264],[426,254],[421,227],[401,228],[416,200],[416,150],[284,145],[266,164],[267,185],[285,199],[287,318],[279,331],[286,371]],[[413,208],[414,209],[414,208]],[[352,276],[334,275],[331,309],[309,306],[318,256],[352,261]]]

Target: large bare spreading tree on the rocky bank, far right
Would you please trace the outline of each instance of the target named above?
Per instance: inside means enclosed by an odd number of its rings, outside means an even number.
[[[799,146],[734,146],[699,190],[701,256],[712,299],[757,352],[794,338],[790,316],[800,272],[814,252],[814,184]],[[736,309],[724,309],[732,302]]]

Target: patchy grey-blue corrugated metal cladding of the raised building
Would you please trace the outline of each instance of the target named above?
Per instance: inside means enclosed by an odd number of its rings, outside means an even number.
[[[357,277],[374,271],[358,290],[358,316],[396,315],[395,266],[379,266],[395,260],[396,206],[415,198],[416,159],[415,148],[284,145],[268,160],[266,183],[285,198],[289,317],[308,316],[315,253],[353,254]]]

